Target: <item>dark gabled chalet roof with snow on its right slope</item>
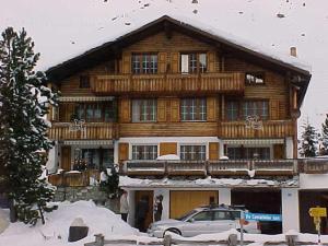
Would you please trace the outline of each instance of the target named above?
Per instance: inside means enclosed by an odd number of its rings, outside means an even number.
[[[114,40],[107,42],[98,47],[92,48],[84,54],[72,59],[63,61],[52,68],[49,68],[46,73],[49,80],[58,82],[69,75],[79,71],[96,66],[109,59],[110,56],[119,56],[122,48],[141,40],[142,38],[154,35],[161,31],[169,33],[177,31],[186,35],[192,36],[201,42],[216,46],[218,48],[231,52],[238,52],[244,59],[251,59],[261,66],[269,67],[282,73],[290,72],[301,79],[298,86],[302,86],[301,102],[306,92],[311,79],[311,68],[307,65],[300,62],[297,58],[284,55],[273,54],[261,47],[256,47],[241,40],[241,38],[233,37],[230,34],[223,33],[215,28],[210,28],[203,23],[190,24],[190,20],[185,17],[172,17],[163,15],[162,17],[150,22],[134,31],[127,33]],[[168,34],[169,35],[169,34]]]

